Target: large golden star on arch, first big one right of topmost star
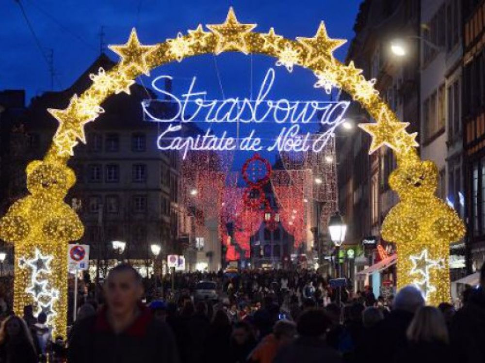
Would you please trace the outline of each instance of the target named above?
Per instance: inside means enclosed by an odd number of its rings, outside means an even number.
[[[306,38],[299,36],[296,40],[308,51],[305,65],[316,65],[317,67],[322,67],[329,59],[332,59],[332,52],[347,42],[345,39],[329,38],[323,21],[320,22],[320,26],[314,37]]]

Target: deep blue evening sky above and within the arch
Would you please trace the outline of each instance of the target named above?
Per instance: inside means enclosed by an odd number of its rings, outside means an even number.
[[[99,55],[99,31],[104,27],[105,43],[121,44],[136,27],[142,43],[153,44],[187,32],[197,24],[221,23],[229,6],[241,22],[258,23],[256,31],[270,27],[288,38],[313,36],[321,20],[330,37],[352,39],[352,30],[360,0],[21,0],[43,51],[53,49],[57,73],[54,90],[67,88]],[[26,89],[27,102],[50,89],[48,66],[30,32],[16,1],[0,1],[0,90]],[[343,60],[347,46],[334,55]],[[117,60],[117,56],[107,50]],[[248,97],[257,93],[259,84],[275,60],[226,53],[203,56],[179,64],[159,67],[144,84],[162,74],[174,77],[174,93],[186,91],[191,77],[197,76],[197,88],[209,98]],[[315,90],[315,77],[304,69],[289,74],[276,68],[274,99],[322,99]],[[264,136],[263,136],[264,137]]]

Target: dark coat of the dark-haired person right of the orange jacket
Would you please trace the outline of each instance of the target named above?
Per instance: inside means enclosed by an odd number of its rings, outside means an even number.
[[[342,363],[338,351],[329,347],[324,340],[300,337],[293,343],[281,347],[274,363]]]

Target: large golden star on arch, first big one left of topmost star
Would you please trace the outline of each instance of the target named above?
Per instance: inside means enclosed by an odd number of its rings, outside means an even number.
[[[128,42],[124,45],[109,46],[113,52],[121,57],[121,65],[123,67],[133,67],[147,76],[150,75],[150,69],[146,64],[146,57],[157,47],[142,45],[138,40],[135,28],[131,29]]]

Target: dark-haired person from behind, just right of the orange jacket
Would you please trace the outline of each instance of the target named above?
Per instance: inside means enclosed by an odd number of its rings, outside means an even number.
[[[312,308],[303,312],[296,326],[298,338],[278,350],[274,363],[343,362],[339,352],[325,342],[325,335],[330,326],[330,317],[323,309]]]

